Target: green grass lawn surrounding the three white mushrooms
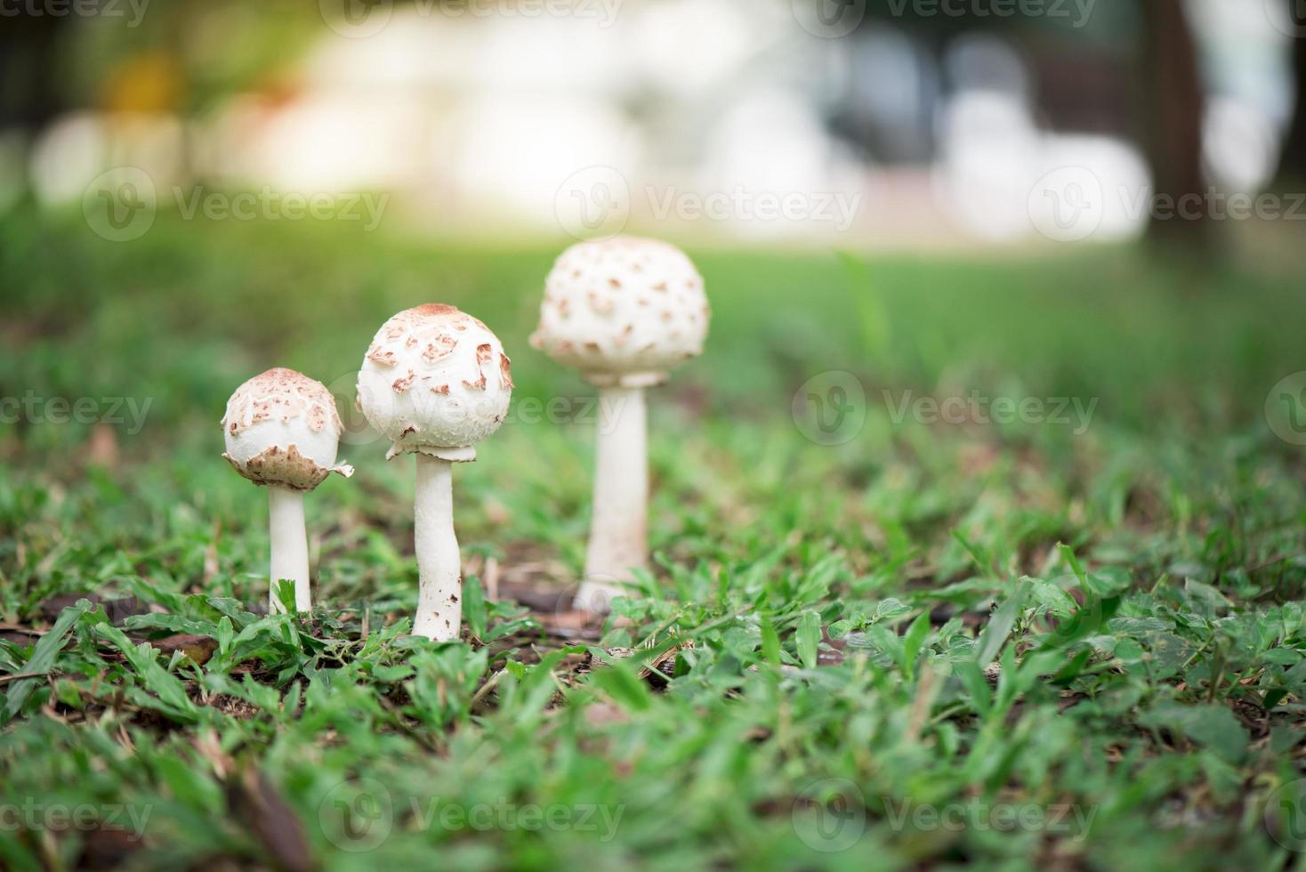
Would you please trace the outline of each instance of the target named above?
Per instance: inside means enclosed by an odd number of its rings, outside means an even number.
[[[525,343],[556,249],[0,239],[0,397],[150,403],[138,432],[0,424],[0,865],[1303,868],[1306,470],[1263,416],[1306,368],[1301,275],[691,248],[714,320],[652,394],[646,597],[563,637],[593,423]],[[375,329],[428,300],[518,385],[454,476],[465,641],[405,634],[411,462],[357,416],[357,476],[307,503],[319,611],[260,616],[226,397],[290,366],[347,411]],[[866,418],[821,445],[791,402],[832,371]],[[1080,433],[893,419],[972,390],[1096,406]],[[482,606],[490,573],[534,608]]]

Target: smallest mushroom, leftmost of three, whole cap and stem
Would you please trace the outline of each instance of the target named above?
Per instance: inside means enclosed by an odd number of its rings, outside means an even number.
[[[225,457],[255,484],[268,486],[272,574],[268,607],[286,611],[277,582],[295,582],[295,610],[312,608],[308,591],[308,539],[304,493],[332,473],[354,474],[336,463],[343,427],[336,399],[320,381],[276,368],[244,382],[227,401],[222,416]]]

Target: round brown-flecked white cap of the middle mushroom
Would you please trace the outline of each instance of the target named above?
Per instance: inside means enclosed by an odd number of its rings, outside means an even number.
[[[452,305],[427,303],[376,333],[358,373],[358,407],[389,437],[387,458],[422,452],[474,461],[474,445],[508,415],[509,366],[490,328]]]

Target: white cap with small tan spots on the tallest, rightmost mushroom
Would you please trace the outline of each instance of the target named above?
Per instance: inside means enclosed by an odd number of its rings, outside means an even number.
[[[594,384],[633,388],[701,354],[710,316],[703,277],[684,252],[614,236],[558,257],[530,343]]]

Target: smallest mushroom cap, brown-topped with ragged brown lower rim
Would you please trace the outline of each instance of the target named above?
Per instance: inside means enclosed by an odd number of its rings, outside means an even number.
[[[222,416],[223,457],[255,484],[311,491],[332,473],[354,474],[336,463],[342,429],[323,382],[278,367],[231,394]]]

